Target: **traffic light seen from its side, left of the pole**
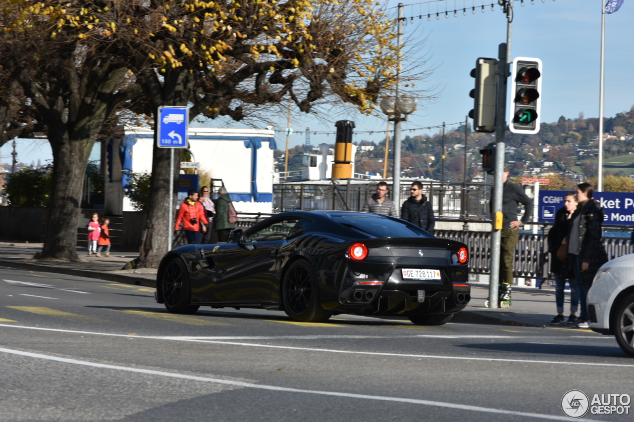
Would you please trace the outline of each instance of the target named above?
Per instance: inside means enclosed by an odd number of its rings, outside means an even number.
[[[469,96],[474,99],[474,109],[469,117],[474,119],[474,131],[495,132],[496,72],[498,61],[480,57],[475,61],[471,77],[475,78],[475,89]]]

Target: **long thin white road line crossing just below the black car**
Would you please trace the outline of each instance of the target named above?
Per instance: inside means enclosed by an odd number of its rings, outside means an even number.
[[[58,329],[58,328],[41,328],[41,327],[29,327],[29,326],[16,326],[8,324],[0,324],[0,327],[10,328],[23,328],[23,329],[37,329],[41,331],[56,331],[58,333],[74,333],[74,334],[92,334],[98,336],[113,336],[113,337],[129,337],[124,334],[110,334],[110,333],[95,333],[93,331],[74,331],[70,329]],[[224,344],[233,346],[247,346],[247,347],[264,347],[264,348],[282,348],[287,350],[303,350],[307,352],[324,352],[324,353],[342,353],[351,355],[372,355],[372,356],[396,356],[396,357],[417,357],[427,359],[449,359],[459,361],[487,361],[487,362],[521,362],[521,363],[534,363],[534,364],[556,364],[556,365],[581,365],[581,366],[609,366],[618,368],[634,368],[634,364],[608,364],[608,363],[593,363],[593,362],[558,362],[558,361],[531,361],[530,359],[503,359],[498,357],[466,357],[466,356],[443,356],[443,355],[413,355],[402,353],[384,353],[384,352],[361,352],[354,350],[336,350],[332,348],[313,348],[313,347],[292,347],[292,346],[276,346],[270,344],[257,344],[257,343],[237,343],[237,342],[217,342],[212,340],[192,340],[187,338],[178,338],[170,336],[139,336],[135,335],[134,338],[147,338],[148,340],[172,340],[177,342],[198,342],[198,343],[212,343],[212,344]],[[514,336],[509,336],[514,338]]]

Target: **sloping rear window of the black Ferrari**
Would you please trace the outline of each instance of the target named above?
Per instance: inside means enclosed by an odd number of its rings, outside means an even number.
[[[404,220],[394,221],[379,217],[365,217],[360,215],[331,215],[332,219],[343,226],[350,227],[363,234],[370,234],[376,238],[433,238],[420,227]]]

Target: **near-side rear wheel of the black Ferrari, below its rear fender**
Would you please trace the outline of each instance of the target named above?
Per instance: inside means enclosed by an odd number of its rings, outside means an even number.
[[[323,323],[332,313],[323,309],[315,271],[306,260],[290,264],[282,283],[282,303],[286,314],[302,323]]]

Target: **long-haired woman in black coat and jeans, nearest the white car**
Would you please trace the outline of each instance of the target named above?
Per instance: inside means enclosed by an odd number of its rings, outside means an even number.
[[[579,206],[574,213],[570,229],[568,252],[573,254],[571,259],[575,278],[579,280],[579,301],[581,315],[579,328],[590,328],[588,319],[587,297],[592,281],[601,265],[607,262],[607,253],[601,242],[603,209],[597,201],[592,199],[594,190],[590,183],[577,185],[577,200]]]

